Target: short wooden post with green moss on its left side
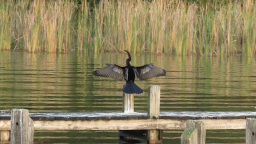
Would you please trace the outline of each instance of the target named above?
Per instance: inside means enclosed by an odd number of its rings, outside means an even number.
[[[181,143],[205,143],[205,123],[200,120],[187,120],[186,129],[181,134]]]

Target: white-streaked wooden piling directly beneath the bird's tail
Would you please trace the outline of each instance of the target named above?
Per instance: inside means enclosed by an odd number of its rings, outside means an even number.
[[[123,84],[123,88],[125,87],[126,83]],[[134,112],[134,96],[133,94],[127,94],[122,92],[122,112]]]

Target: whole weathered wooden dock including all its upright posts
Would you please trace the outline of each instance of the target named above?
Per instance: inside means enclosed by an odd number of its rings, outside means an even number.
[[[133,112],[134,97],[123,94],[123,112],[0,113],[0,143],[33,143],[34,130],[119,130],[120,138],[161,143],[163,129],[185,129],[181,143],[205,143],[205,129],[246,129],[246,144],[255,143],[256,112],[159,111],[160,87],[148,88],[148,111]],[[255,121],[255,122],[254,122]],[[132,131],[131,131],[132,130]]]

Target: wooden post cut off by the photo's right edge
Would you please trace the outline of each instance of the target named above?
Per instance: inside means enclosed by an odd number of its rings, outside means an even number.
[[[256,118],[246,118],[246,144],[254,144],[256,142]]]

